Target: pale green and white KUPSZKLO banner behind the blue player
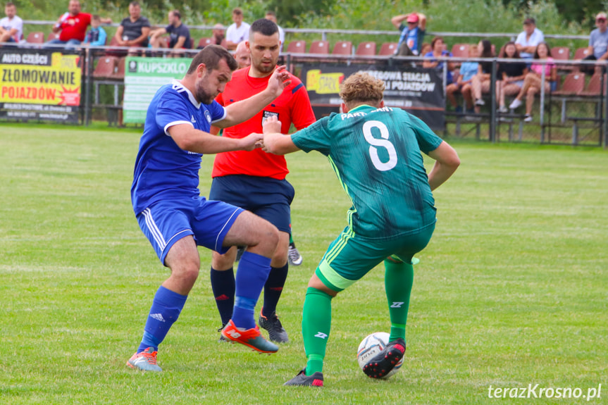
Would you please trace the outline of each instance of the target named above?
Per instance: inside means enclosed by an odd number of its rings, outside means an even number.
[[[123,122],[143,124],[152,97],[161,86],[186,74],[192,58],[137,58],[125,61]]]

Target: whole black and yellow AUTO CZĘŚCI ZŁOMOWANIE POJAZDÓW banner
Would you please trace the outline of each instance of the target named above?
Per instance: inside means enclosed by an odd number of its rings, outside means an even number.
[[[80,57],[47,49],[0,49],[0,118],[78,122]]]

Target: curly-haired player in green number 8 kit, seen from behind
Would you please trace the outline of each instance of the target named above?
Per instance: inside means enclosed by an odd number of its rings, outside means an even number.
[[[328,156],[352,201],[348,226],[332,242],[309,281],[302,318],[306,368],[285,385],[323,386],[331,299],[384,261],[390,343],[364,372],[390,373],[405,352],[405,325],[414,279],[411,259],[435,230],[432,190],[458,168],[459,157],[418,118],[384,106],[384,82],[356,73],[340,85],[342,113],[292,135],[268,118],[263,149],[273,154],[319,151]],[[435,159],[427,175],[421,152]]]

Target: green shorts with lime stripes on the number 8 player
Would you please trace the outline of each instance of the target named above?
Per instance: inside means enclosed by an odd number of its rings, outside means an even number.
[[[342,291],[361,280],[369,270],[378,266],[388,256],[394,255],[405,263],[411,263],[414,254],[426,247],[434,230],[433,223],[413,235],[371,241],[356,237],[347,227],[329,245],[315,274],[326,287]]]

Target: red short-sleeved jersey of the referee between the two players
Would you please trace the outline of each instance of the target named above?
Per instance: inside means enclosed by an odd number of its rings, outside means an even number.
[[[223,106],[229,106],[266,89],[271,75],[250,77],[248,73],[249,68],[235,71],[232,74],[232,80],[228,82],[224,92],[218,94],[216,101]],[[277,116],[280,120],[283,134],[289,132],[292,123],[298,130],[314,123],[315,117],[306,88],[292,74],[290,74],[290,80],[292,82],[285,87],[283,94],[244,123],[224,128],[223,136],[244,138],[252,132],[261,133],[263,120],[270,116]],[[287,170],[285,156],[267,154],[261,149],[254,149],[253,151],[232,151],[217,154],[216,160],[213,162],[211,177],[250,175],[283,180],[287,173],[289,173],[289,170]]]

